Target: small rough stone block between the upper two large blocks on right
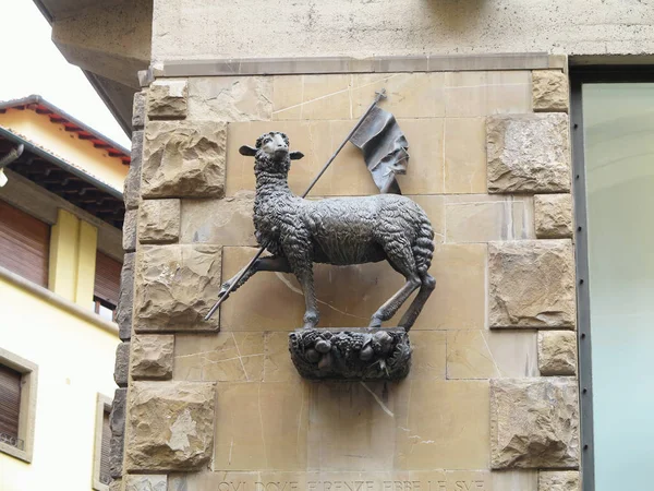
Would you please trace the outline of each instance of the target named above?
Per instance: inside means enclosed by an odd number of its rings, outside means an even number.
[[[572,237],[572,196],[570,194],[535,195],[534,219],[538,239]]]

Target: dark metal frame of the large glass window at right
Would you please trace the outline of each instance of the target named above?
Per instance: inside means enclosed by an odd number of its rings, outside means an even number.
[[[589,242],[582,85],[591,83],[654,83],[654,65],[596,64],[570,67],[570,132],[572,140],[572,199],[577,258],[577,336],[581,417],[581,475],[583,491],[595,490],[593,369]]]

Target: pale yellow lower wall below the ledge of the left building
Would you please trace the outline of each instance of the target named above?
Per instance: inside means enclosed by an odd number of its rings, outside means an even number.
[[[0,278],[0,345],[38,366],[34,457],[0,453],[0,491],[90,490],[98,392],[119,339]]]

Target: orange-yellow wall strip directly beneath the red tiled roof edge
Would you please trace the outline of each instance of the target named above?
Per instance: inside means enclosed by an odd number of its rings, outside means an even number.
[[[8,109],[0,115],[0,127],[25,136],[122,192],[129,166],[123,165],[118,157],[110,157],[106,151],[94,147],[89,141],[80,140],[75,133],[66,132],[63,124],[52,123],[47,116],[37,115],[29,109]]]

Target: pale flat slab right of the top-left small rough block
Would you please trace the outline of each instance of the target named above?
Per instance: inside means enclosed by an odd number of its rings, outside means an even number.
[[[193,76],[189,80],[189,118],[210,121],[269,121],[271,76]]]

